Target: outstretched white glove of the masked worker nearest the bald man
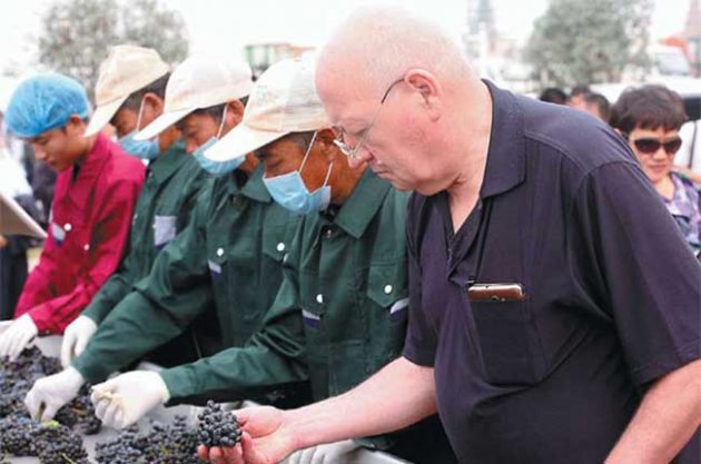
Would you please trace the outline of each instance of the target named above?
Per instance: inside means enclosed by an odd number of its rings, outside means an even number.
[[[149,371],[121,374],[96,385],[90,395],[95,414],[102,424],[115,428],[128,427],[169,398],[164,379]]]

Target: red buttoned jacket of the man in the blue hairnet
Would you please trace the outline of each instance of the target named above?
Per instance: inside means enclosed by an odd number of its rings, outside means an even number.
[[[146,170],[102,135],[75,169],[58,175],[49,238],[14,309],[39,334],[61,334],[117,268]]]

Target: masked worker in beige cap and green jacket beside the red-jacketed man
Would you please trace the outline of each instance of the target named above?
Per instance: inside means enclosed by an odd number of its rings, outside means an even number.
[[[131,220],[127,255],[88,307],[66,328],[61,345],[63,367],[70,366],[71,359],[82,353],[98,325],[131,293],[131,287],[148,276],[158,253],[188,224],[197,198],[208,181],[209,176],[186,152],[180,132],[171,125],[164,127],[159,137],[132,140],[127,136],[164,113],[166,89],[162,85],[169,70],[156,50],[135,46],[112,47],[100,67],[95,89],[98,107],[87,135],[97,134],[107,121],[116,120],[120,139],[129,140],[127,148],[141,155],[155,152],[156,156],[150,158],[149,155],[146,181]],[[195,336],[184,334],[174,345],[154,353],[151,361],[168,365],[196,356],[191,339]]]

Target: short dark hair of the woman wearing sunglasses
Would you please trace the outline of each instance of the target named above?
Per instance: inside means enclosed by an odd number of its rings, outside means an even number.
[[[628,89],[611,108],[611,126],[623,134],[636,127],[654,130],[679,129],[687,121],[681,97],[664,86]]]

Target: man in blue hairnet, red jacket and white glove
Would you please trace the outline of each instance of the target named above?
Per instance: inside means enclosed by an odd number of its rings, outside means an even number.
[[[115,272],[129,236],[144,165],[103,136],[86,137],[85,89],[58,73],[29,78],[14,90],[8,130],[32,145],[59,175],[49,237],[0,334],[0,356],[16,358],[37,335],[62,334]]]

